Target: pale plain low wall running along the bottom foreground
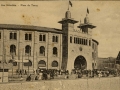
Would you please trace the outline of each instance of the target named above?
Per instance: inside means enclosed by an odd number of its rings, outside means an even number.
[[[120,90],[120,77],[3,83],[0,90]]]

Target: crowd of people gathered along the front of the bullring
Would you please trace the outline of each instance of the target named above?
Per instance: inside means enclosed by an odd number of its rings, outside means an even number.
[[[69,73],[68,70],[55,70],[55,69],[49,69],[49,70],[42,70],[38,69],[36,70],[35,78],[34,80],[48,80],[48,79],[54,79],[58,76],[64,76],[65,79],[69,79],[70,76],[76,75],[76,78],[93,78],[93,77],[109,77],[109,76],[120,76],[120,70],[80,70],[80,69],[73,69],[71,73]],[[31,81],[31,74],[26,78],[26,81]],[[60,77],[59,77],[60,78]]]

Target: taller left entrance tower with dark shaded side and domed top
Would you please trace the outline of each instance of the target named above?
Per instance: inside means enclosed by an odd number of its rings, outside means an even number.
[[[67,63],[69,62],[68,60],[68,52],[69,52],[69,43],[72,38],[70,37],[70,32],[74,30],[74,24],[77,23],[78,21],[74,20],[71,18],[71,12],[68,10],[65,13],[65,18],[63,18],[61,21],[58,23],[62,24],[62,66],[61,68],[63,70],[67,69]]]

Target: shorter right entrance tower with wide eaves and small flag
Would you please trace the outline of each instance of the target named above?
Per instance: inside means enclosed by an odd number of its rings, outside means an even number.
[[[87,38],[87,49],[89,50],[89,60],[87,60],[87,69],[92,69],[93,68],[93,63],[95,63],[95,59],[94,59],[94,50],[92,49],[92,29],[96,28],[96,26],[92,25],[92,23],[90,23],[89,17],[89,10],[87,8],[87,14],[86,17],[84,18],[84,23],[80,23],[80,25],[78,26],[78,28],[80,28],[80,30],[82,30],[83,33],[86,34],[86,38]]]

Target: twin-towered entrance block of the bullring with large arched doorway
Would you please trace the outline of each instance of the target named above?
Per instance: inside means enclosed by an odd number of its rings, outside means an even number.
[[[65,16],[65,18],[59,21],[63,30],[62,69],[67,68],[71,71],[74,68],[82,68],[82,66],[84,69],[96,68],[98,42],[92,39],[92,29],[96,26],[89,23],[89,18],[86,16],[84,23],[80,23],[78,26],[80,29],[75,30],[74,24],[78,21],[71,18],[70,11],[67,11]],[[84,60],[80,61],[79,58],[84,58]]]

